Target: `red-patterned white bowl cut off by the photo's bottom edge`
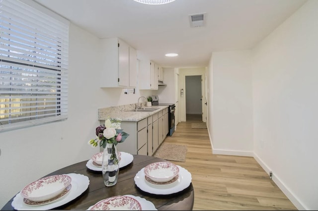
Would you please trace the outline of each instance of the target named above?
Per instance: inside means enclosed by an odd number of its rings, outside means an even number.
[[[116,196],[97,202],[89,208],[90,211],[141,211],[141,204],[134,198],[128,196]]]

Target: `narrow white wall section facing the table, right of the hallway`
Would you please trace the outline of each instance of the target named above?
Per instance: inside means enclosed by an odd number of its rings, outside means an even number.
[[[212,60],[213,153],[252,156],[250,51],[213,52]]]

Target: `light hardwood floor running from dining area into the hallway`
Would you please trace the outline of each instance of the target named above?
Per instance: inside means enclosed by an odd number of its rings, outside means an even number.
[[[194,187],[193,210],[297,210],[252,157],[214,155],[207,129],[191,128],[201,115],[187,115],[163,143],[187,146],[187,169]]]

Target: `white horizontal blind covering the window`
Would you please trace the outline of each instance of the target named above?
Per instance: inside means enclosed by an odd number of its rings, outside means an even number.
[[[69,24],[0,0],[0,131],[68,114]]]

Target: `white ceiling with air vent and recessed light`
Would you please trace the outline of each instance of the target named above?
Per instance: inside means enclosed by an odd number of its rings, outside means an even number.
[[[35,0],[99,38],[119,37],[162,67],[205,67],[213,51],[250,49],[306,0]],[[205,13],[191,27],[189,15]],[[165,53],[178,53],[165,57]]]

